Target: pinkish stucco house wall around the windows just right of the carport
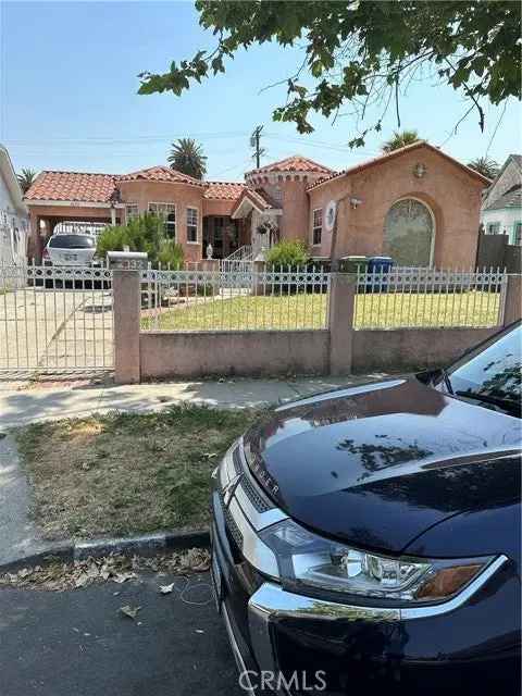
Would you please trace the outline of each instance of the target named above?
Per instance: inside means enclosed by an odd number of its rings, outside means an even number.
[[[199,261],[202,257],[203,188],[187,184],[163,182],[121,182],[122,201],[137,203],[140,212],[149,203],[175,203],[176,240],[183,246],[185,261]],[[187,207],[199,211],[198,241],[187,241]]]

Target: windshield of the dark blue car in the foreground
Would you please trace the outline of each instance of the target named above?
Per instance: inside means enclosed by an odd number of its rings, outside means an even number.
[[[499,406],[509,410],[521,406],[522,384],[522,325],[507,330],[486,346],[464,356],[448,371],[449,386],[453,394],[474,398],[477,402]]]

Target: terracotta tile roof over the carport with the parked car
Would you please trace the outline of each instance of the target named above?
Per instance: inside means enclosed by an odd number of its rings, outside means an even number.
[[[108,203],[115,194],[115,179],[113,174],[45,171],[38,174],[24,199]]]

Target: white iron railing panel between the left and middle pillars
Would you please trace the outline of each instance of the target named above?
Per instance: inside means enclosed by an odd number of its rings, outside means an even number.
[[[330,274],[321,269],[142,272],[141,327],[164,331],[326,328]]]

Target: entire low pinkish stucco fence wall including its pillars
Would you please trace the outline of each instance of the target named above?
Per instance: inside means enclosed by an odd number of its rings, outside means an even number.
[[[121,384],[206,375],[349,374],[447,364],[500,326],[352,328],[355,283],[332,278],[330,327],[315,331],[140,331],[139,273],[114,272],[115,378]],[[510,276],[505,324],[521,316]]]

